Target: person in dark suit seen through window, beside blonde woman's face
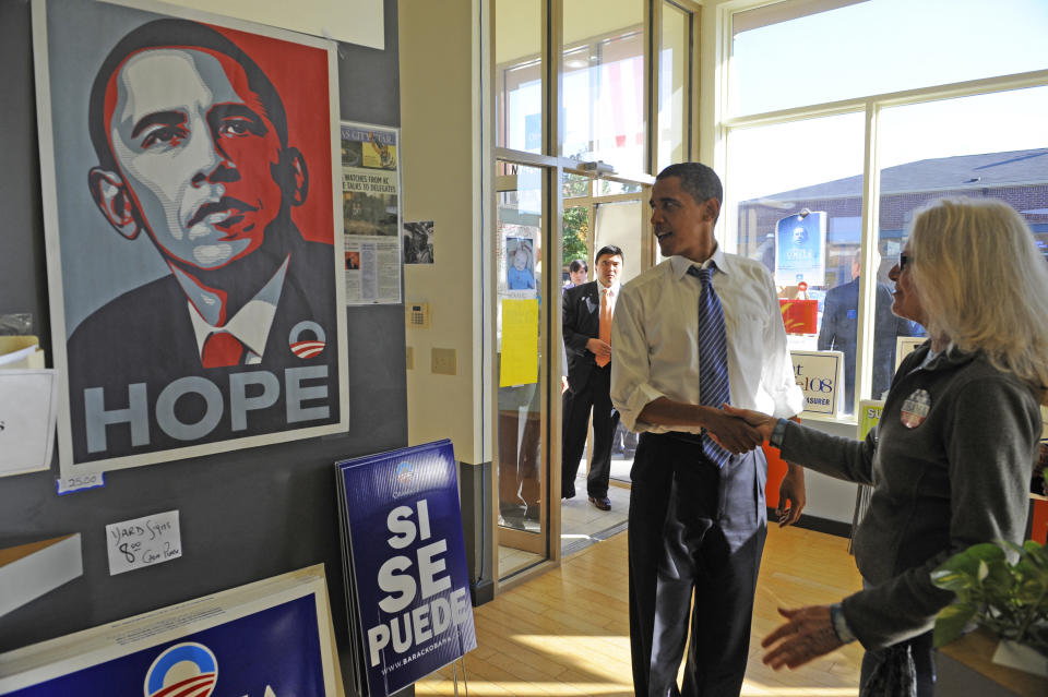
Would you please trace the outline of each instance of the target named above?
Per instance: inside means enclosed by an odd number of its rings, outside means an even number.
[[[851,257],[851,280],[826,292],[819,327],[819,350],[844,353],[844,405],[851,413],[855,404],[855,352],[859,326],[859,251]],[[910,323],[892,314],[892,291],[877,284],[877,315],[873,320],[873,398],[879,399],[895,373],[895,338],[914,334]]]

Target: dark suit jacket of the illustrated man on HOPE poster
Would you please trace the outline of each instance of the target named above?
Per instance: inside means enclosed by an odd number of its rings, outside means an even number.
[[[293,230],[291,233],[298,237],[297,231]],[[266,338],[262,362],[257,365],[203,368],[186,293],[172,275],[129,290],[84,320],[67,343],[75,460],[120,457],[336,423],[340,417],[337,357],[341,350],[336,312],[343,310],[342,299],[335,297],[332,254],[331,245],[317,242],[299,241],[290,247],[290,262],[276,314]],[[259,281],[259,287],[264,281]],[[291,332],[303,321],[315,322],[325,335],[324,350],[311,358],[299,358],[290,349]],[[299,340],[312,338],[313,333],[309,331],[298,336]],[[288,423],[287,402],[295,395],[288,394],[285,369],[299,366],[326,368],[326,376],[301,382],[299,389],[313,392],[297,398],[302,411],[293,412],[293,422]],[[273,384],[261,371],[272,374],[276,383]],[[240,374],[245,374],[243,377],[238,377]],[[179,380],[182,381],[179,385],[191,389],[187,389],[174,405],[158,408],[159,395]],[[247,381],[247,386],[236,387],[240,381]],[[270,395],[277,395],[275,401],[263,405],[261,401],[264,400],[257,399],[264,392],[263,383],[259,381],[267,381]],[[132,406],[129,385],[142,384],[145,385],[147,405],[147,421],[144,423],[147,426],[147,442],[142,442],[141,431],[138,437],[132,437],[134,430],[121,422],[105,429],[104,452],[88,452],[84,390],[102,387],[105,390],[104,409],[115,412]],[[221,419],[210,430],[206,426],[211,424],[205,420],[205,398],[198,387],[210,394],[212,413],[217,411],[214,400],[221,398]],[[172,388],[168,396],[178,394],[177,388]],[[320,395],[322,390],[326,390],[326,396]],[[248,402],[248,409],[246,419],[235,422],[230,396],[238,394],[247,396],[245,401]],[[325,408],[326,414],[323,414]],[[165,410],[174,412],[175,419],[186,428],[178,424],[175,424],[175,429],[171,424],[165,428],[158,416]],[[245,409],[241,408],[242,411]],[[195,430],[194,424],[199,424]]]

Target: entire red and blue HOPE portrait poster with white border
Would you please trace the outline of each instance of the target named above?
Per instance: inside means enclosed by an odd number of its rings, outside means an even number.
[[[33,31],[63,478],[345,432],[335,44],[147,2]]]

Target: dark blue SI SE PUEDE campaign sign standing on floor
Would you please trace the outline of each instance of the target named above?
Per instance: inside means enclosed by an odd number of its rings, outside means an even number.
[[[336,464],[348,666],[385,697],[477,647],[450,441]]]

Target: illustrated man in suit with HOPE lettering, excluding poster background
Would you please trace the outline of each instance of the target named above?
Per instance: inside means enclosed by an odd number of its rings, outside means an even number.
[[[69,338],[76,461],[337,422],[334,252],[291,219],[308,170],[265,73],[210,27],[158,20],[114,47],[88,110],[92,197],[170,274]]]

